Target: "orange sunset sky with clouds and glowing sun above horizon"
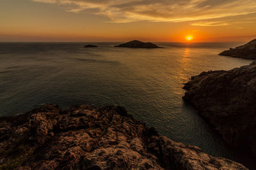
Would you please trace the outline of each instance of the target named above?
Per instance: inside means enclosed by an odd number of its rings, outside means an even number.
[[[255,0],[0,0],[0,41],[250,41]]]

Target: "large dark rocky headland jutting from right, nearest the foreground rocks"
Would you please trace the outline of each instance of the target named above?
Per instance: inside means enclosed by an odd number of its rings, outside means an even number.
[[[230,71],[203,72],[184,89],[184,100],[227,143],[256,157],[256,62]]]

